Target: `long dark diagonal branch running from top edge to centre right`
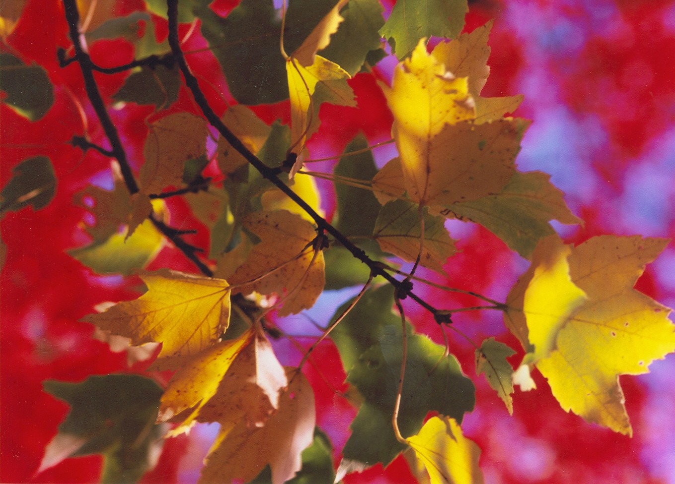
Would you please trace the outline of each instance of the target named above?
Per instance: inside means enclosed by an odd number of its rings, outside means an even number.
[[[207,121],[209,121],[209,123],[211,123],[211,125],[218,130],[223,138],[225,138],[225,140],[227,140],[227,142],[232,145],[232,148],[242,154],[242,156],[244,156],[244,158],[246,158],[246,160],[248,160],[248,162],[252,164],[255,169],[257,169],[257,171],[259,171],[263,178],[269,180],[271,183],[273,183],[273,185],[275,185],[275,187],[286,193],[288,198],[293,200],[296,204],[298,204],[298,206],[300,206],[300,208],[302,208],[302,210],[311,216],[317,226],[319,226],[320,230],[329,233],[335,238],[335,240],[342,243],[342,245],[344,245],[344,247],[346,247],[346,249],[350,251],[356,259],[360,260],[360,262],[363,264],[366,264],[371,270],[373,276],[382,276],[385,278],[392,286],[394,286],[401,299],[403,299],[405,296],[410,297],[410,299],[416,301],[416,303],[423,306],[433,315],[436,315],[439,312],[438,309],[415,295],[412,292],[412,283],[410,283],[410,281],[408,281],[408,284],[404,284],[403,282],[394,278],[394,276],[389,274],[389,272],[386,272],[380,264],[377,264],[377,262],[369,258],[365,251],[356,247],[356,245],[354,245],[354,243],[352,243],[347,237],[338,231],[338,229],[335,229],[335,227],[329,224],[325,218],[317,214],[317,212],[315,212],[315,210],[311,208],[307,202],[305,202],[299,195],[290,189],[286,183],[281,181],[279,177],[277,177],[277,170],[267,167],[265,163],[259,160],[257,156],[255,156],[252,152],[250,152],[250,150],[248,150],[248,148],[246,148],[246,146],[244,146],[244,144],[236,137],[236,135],[234,135],[234,133],[232,133],[232,131],[227,129],[218,115],[216,115],[213,109],[211,109],[207,98],[204,96],[204,93],[199,87],[197,79],[192,74],[192,71],[190,71],[190,67],[188,67],[188,64],[183,55],[183,51],[180,48],[180,40],[178,38],[178,0],[167,0],[167,7],[169,18],[169,46],[171,46],[173,58],[175,59],[176,63],[178,63],[178,67],[180,67],[180,70],[183,73],[185,84],[192,92],[195,102],[200,107],[202,114],[206,117]]]

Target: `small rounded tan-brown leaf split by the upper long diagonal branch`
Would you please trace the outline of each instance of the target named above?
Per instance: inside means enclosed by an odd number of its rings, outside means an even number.
[[[253,111],[241,104],[229,107],[225,111],[222,121],[253,154],[257,154],[263,148],[263,144],[265,144],[265,140],[267,140],[271,131],[271,128],[263,123]],[[248,163],[246,158],[232,148],[222,136],[218,138],[217,152],[218,167],[225,175]]]

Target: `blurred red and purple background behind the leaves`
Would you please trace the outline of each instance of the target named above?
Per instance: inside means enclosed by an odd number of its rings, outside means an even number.
[[[227,11],[235,0],[216,1]],[[391,2],[393,3],[393,2]],[[389,7],[391,6],[388,4]],[[115,13],[143,9],[141,0],[119,1]],[[572,211],[585,220],[583,228],[559,226],[566,241],[616,233],[672,237],[675,233],[675,1],[673,0],[556,0],[470,2],[466,30],[495,18],[489,44],[491,75],[484,96],[525,94],[516,115],[533,119],[518,156],[520,169],[551,173],[566,193]],[[165,22],[153,18],[158,34]],[[187,29],[187,26],[182,28]],[[5,483],[85,483],[99,476],[97,456],[69,459],[36,475],[47,442],[57,432],[67,406],[42,390],[47,379],[78,382],[92,374],[141,371],[126,367],[126,355],[111,353],[92,340],[92,326],[78,322],[101,301],[138,296],[136,278],[95,276],[65,249],[87,242],[78,229],[84,210],[72,203],[73,195],[89,183],[109,187],[109,160],[82,152],[68,144],[85,131],[93,142],[107,146],[90,109],[77,65],[61,69],[56,48],[68,47],[61,3],[29,0],[16,30],[3,49],[19,53],[47,69],[55,84],[55,104],[41,121],[30,123],[1,107],[1,183],[11,169],[30,156],[51,158],[58,177],[53,202],[39,212],[24,209],[8,214],[2,237],[8,246],[1,274],[2,318],[0,338],[0,481]],[[194,32],[186,51],[200,51],[205,41]],[[124,40],[92,44],[92,57],[112,66],[132,60],[133,49]],[[188,55],[202,80],[225,90],[217,62],[209,51]],[[389,78],[394,61],[385,59],[375,74]],[[103,96],[124,82],[125,74],[99,75]],[[373,78],[356,75],[350,81],[359,101],[357,109],[325,107],[323,125],[311,144],[314,156],[342,151],[359,130],[371,143],[390,138],[391,117]],[[220,93],[204,83],[217,113],[226,107]],[[225,94],[227,98],[227,94]],[[152,107],[128,105],[111,110],[134,167],[142,159],[146,127]],[[172,111],[196,112],[182,90]],[[255,110],[265,121],[288,120],[284,103]],[[84,125],[86,123],[86,125]],[[391,154],[375,150],[379,162]],[[320,185],[327,188],[328,185]],[[334,210],[325,195],[328,214]],[[191,242],[207,247],[202,226],[192,220],[186,206],[172,201],[174,220],[202,228]],[[510,285],[527,266],[489,232],[461,222],[448,225],[463,251],[452,258],[446,282],[504,299]],[[151,268],[170,267],[188,272],[196,268],[180,252],[166,247]],[[675,246],[670,245],[651,264],[638,287],[661,303],[675,305]],[[452,281],[452,282],[451,282]],[[448,307],[462,299],[429,290],[428,298]],[[322,297],[311,316],[325,323],[345,293]],[[427,315],[408,308],[419,330],[437,341],[441,335]],[[302,332],[304,317],[279,322]],[[476,342],[487,336],[518,347],[504,332],[497,315],[458,316],[455,326]],[[306,330],[308,331],[308,330]],[[290,342],[275,343],[282,363],[296,362],[298,351]],[[488,483],[674,483],[675,484],[675,357],[651,365],[651,373],[621,377],[632,421],[632,439],[585,423],[562,411],[545,380],[535,375],[539,390],[514,394],[514,415],[489,389],[483,377],[474,377],[473,348],[450,333],[452,351],[464,371],[477,384],[477,409],[464,420],[464,433],[483,450],[481,466]],[[520,356],[513,359],[517,363]],[[340,447],[348,437],[354,409],[335,394],[344,390],[344,374],[331,344],[319,347],[317,367],[306,372],[317,393],[318,423]],[[166,375],[153,375],[164,382]],[[145,483],[191,483],[213,435],[212,427],[198,428],[190,436],[167,441],[155,471]],[[396,460],[386,470],[373,468],[346,478],[347,483],[398,483],[409,479],[406,465]]]

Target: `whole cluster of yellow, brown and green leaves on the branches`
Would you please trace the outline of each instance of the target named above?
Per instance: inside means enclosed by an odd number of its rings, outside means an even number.
[[[529,122],[510,114],[522,96],[481,96],[491,24],[460,33],[462,1],[402,0],[387,20],[378,0],[291,0],[281,12],[271,0],[242,0],[227,16],[207,0],[168,3],[168,15],[163,1],[146,0],[146,10],[114,17],[112,1],[65,0],[74,49],[59,58],[82,69],[110,148],[86,133],[73,144],[109,156],[114,180],[111,191],[92,185],[78,195],[94,221],[84,224],[90,243],[70,253],[97,274],[140,272],[146,285],[138,299],[84,320],[111,346],[128,347],[130,359],[154,358],[151,369],[173,373],[163,390],[136,375],[47,382],[72,411],[41,468],[95,452],[106,457],[104,481],[133,481],[152,465],[165,423],[171,437],[216,422],[202,482],[333,482],[401,452],[421,482],[482,482],[479,449],[460,427],[474,386],[447,347],[406,321],[403,299],[439,324],[452,324],[458,310],[504,313],[526,355],[514,371],[507,360],[514,350],[488,338],[476,345],[475,371],[509,412],[514,385],[534,388],[536,367],[564,410],[631,433],[618,375],[644,373],[675,350],[668,308],[633,289],[666,241],[607,235],[573,247],[560,240],[551,220],[581,221],[547,175],[516,168]],[[20,8],[1,11],[3,36],[19,16]],[[168,17],[165,42],[155,38],[158,17]],[[220,116],[180,51],[178,22],[200,26],[238,102]],[[431,36],[441,37],[433,49]],[[132,42],[136,58],[119,68],[99,67],[82,43],[117,37]],[[333,173],[308,171],[306,144],[319,131],[321,106],[356,105],[348,80],[372,71],[388,51],[399,62],[391,85],[380,86],[398,156],[378,168],[358,135]],[[31,120],[47,113],[52,88],[41,67],[3,53],[0,69],[7,106]],[[97,90],[97,70],[130,71],[111,101],[117,107],[155,106],[142,161],[132,163],[136,174]],[[182,79],[201,116],[171,109]],[[287,99],[290,125],[268,125],[246,107]],[[315,177],[335,183],[330,223]],[[55,183],[48,158],[24,161],[0,193],[0,213],[42,208]],[[184,240],[186,231],[169,225],[164,200],[179,196],[209,230],[205,258]],[[481,224],[531,262],[503,303],[470,293],[481,306],[445,309],[413,292],[419,266],[443,274],[456,252],[445,229],[450,218]],[[167,243],[202,274],[144,272]],[[412,268],[398,270],[405,262]],[[279,363],[270,315],[300,313],[326,289],[358,284],[362,291],[323,334],[340,353],[358,406],[336,472],[302,373],[315,346],[298,367]]]

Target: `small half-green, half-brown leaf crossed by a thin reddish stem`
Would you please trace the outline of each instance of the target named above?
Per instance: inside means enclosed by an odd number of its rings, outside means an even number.
[[[450,239],[448,231],[445,230],[443,217],[427,213],[424,213],[423,217],[424,247],[420,264],[444,274],[443,264],[456,252],[455,241]],[[405,200],[396,200],[383,206],[373,230],[373,237],[383,251],[398,255],[408,262],[414,262],[417,258],[421,234],[418,206]]]

